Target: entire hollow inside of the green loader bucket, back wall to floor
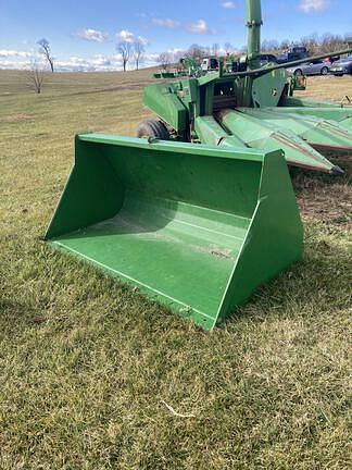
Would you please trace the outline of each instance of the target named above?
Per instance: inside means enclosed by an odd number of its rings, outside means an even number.
[[[260,177],[260,162],[201,148],[79,141],[47,238],[212,327]]]

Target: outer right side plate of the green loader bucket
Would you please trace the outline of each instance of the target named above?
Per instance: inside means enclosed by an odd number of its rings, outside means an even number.
[[[228,317],[255,288],[301,258],[303,224],[282,154],[264,160],[260,200],[232,271],[218,320]]]

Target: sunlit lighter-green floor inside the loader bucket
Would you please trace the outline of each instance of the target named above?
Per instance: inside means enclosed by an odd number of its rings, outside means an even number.
[[[209,212],[127,191],[115,217],[55,243],[206,321],[218,310],[250,223]]]

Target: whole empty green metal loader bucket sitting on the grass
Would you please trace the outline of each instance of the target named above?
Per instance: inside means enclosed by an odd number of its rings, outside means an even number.
[[[302,223],[281,151],[98,134],[46,239],[205,330],[300,258]]]

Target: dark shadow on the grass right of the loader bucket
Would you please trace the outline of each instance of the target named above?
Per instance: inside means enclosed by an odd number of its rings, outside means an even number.
[[[348,248],[328,237],[314,239],[318,227],[311,226],[306,234],[304,255],[301,261],[267,285],[256,289],[244,306],[238,308],[227,320],[236,323],[236,318],[250,316],[260,318],[269,312],[277,316],[304,316],[312,312],[337,311],[347,308],[350,298],[351,256]],[[312,233],[313,232],[313,233]]]

